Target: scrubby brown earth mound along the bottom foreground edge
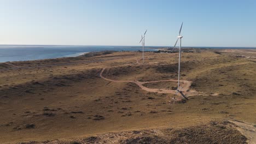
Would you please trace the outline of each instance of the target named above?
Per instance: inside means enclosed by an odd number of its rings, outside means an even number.
[[[246,137],[228,121],[211,121],[185,128],[161,128],[98,134],[69,141],[44,143],[246,143]],[[218,137],[218,139],[216,139]],[[26,144],[38,143],[28,142]]]

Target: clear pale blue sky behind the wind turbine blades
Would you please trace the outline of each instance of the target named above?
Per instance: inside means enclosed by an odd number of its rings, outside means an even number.
[[[256,46],[255,0],[0,0],[0,44]]]

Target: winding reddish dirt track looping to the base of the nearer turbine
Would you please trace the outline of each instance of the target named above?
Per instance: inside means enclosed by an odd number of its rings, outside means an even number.
[[[148,92],[157,92],[157,93],[172,93],[175,94],[176,91],[175,90],[171,90],[171,89],[157,89],[157,88],[147,88],[145,86],[143,86],[143,84],[145,83],[154,83],[154,82],[166,82],[166,81],[174,81],[177,82],[177,80],[160,80],[160,81],[147,81],[147,82],[141,82],[141,81],[130,81],[130,80],[110,80],[106,77],[104,77],[102,74],[104,72],[106,68],[103,68],[101,70],[100,76],[102,79],[107,80],[107,81],[112,81],[112,82],[132,82],[135,83],[136,85],[138,85],[141,89],[143,89],[144,91],[148,91]],[[195,94],[199,94],[199,92],[196,91],[190,91],[189,87],[191,86],[191,81],[185,81],[182,80],[182,92],[187,95],[187,97],[195,95]]]

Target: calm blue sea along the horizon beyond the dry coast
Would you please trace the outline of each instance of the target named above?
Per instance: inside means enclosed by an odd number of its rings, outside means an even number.
[[[145,46],[145,51],[158,51],[167,46]],[[245,49],[244,47],[198,47],[211,49]],[[255,47],[247,47],[255,49]],[[71,45],[0,45],[0,62],[76,57],[97,51],[138,51],[142,46],[71,46]]]

